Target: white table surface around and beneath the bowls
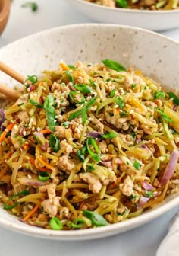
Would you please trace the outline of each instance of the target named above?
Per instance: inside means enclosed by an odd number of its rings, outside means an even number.
[[[94,22],[72,9],[68,0],[36,0],[39,5],[36,13],[31,12],[29,8],[21,8],[20,5],[24,2],[27,1],[13,0],[8,25],[0,37],[0,47],[51,27]],[[162,34],[179,41],[179,28],[164,31]],[[0,255],[154,256],[168,231],[169,221],[178,210],[179,206],[165,216],[124,234],[85,242],[49,241],[0,228]]]

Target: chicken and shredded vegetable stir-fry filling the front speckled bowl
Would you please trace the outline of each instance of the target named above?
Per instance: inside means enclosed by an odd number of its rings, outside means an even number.
[[[107,226],[178,190],[179,98],[105,59],[61,62],[1,110],[4,209],[43,229]]]

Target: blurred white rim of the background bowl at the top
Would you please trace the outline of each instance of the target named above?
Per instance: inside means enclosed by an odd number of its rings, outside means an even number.
[[[69,1],[69,0],[68,0]],[[127,9],[127,8],[115,8],[115,7],[108,7],[108,6],[105,6],[105,5],[97,5],[96,3],[93,3],[93,2],[86,2],[85,0],[70,0],[70,1],[73,1],[73,2],[78,2],[82,5],[86,5],[86,8],[88,7],[91,7],[91,8],[97,8],[99,10],[103,10],[103,11],[113,11],[113,12],[118,12],[118,11],[121,11],[121,12],[126,12],[127,13],[136,13],[136,14],[154,14],[154,15],[165,15],[165,14],[176,14],[176,13],[179,13],[179,8],[178,9],[174,9],[174,10],[140,10],[140,9]]]

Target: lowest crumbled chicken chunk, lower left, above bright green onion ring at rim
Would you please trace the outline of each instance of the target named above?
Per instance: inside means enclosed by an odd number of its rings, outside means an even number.
[[[58,208],[60,206],[60,199],[61,197],[53,197],[42,201],[41,206],[43,207],[43,210],[49,214],[50,218],[57,215]]]

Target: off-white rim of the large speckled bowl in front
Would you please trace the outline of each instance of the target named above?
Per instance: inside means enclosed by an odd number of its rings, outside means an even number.
[[[174,43],[179,47],[179,43],[175,40],[171,40],[169,37],[166,37],[162,34],[158,34],[156,32],[146,30],[140,27],[132,27],[132,26],[125,26],[125,25],[119,25],[119,24],[98,24],[98,23],[89,23],[89,24],[71,24],[71,25],[65,25],[61,27],[54,27],[50,28],[48,30],[42,30],[36,34],[31,34],[27,37],[23,37],[20,40],[16,40],[12,43],[9,43],[7,46],[4,46],[0,49],[0,53],[3,50],[8,50],[8,47],[11,45],[14,45],[16,43],[20,43],[21,41],[28,40],[31,37],[39,37],[41,35],[51,34],[58,31],[63,30],[74,30],[76,28],[80,27],[93,27],[93,28],[121,28],[124,30],[133,30],[133,31],[141,31],[145,34],[151,34],[155,37],[161,37],[164,40]],[[120,233],[120,229],[124,231],[127,231],[127,229],[134,229],[135,227],[141,226],[146,222],[151,221],[152,219],[155,219],[159,216],[162,216],[162,214],[168,212],[169,210],[173,209],[175,206],[179,206],[179,193],[176,193],[176,197],[172,198],[171,200],[168,200],[166,203],[163,203],[159,207],[155,207],[152,210],[146,211],[146,213],[143,213],[140,216],[137,216],[133,219],[127,219],[127,221],[124,222],[118,222],[115,224],[111,224],[108,226],[99,227],[97,229],[81,229],[81,230],[50,230],[50,229],[42,229],[37,228],[36,226],[30,226],[28,224],[23,224],[20,222],[21,225],[19,225],[17,222],[13,222],[13,219],[2,219],[0,218],[0,226],[4,226],[7,229],[11,229],[17,232],[24,233],[26,235],[33,235],[35,237],[41,237],[41,238],[50,238],[54,240],[66,240],[66,241],[72,241],[72,240],[87,240],[87,239],[93,239],[93,238],[102,238],[105,236],[114,235],[117,233]],[[5,211],[6,212],[6,211]],[[10,213],[6,212],[8,215]],[[5,213],[5,214],[6,214]],[[0,213],[1,215],[1,213]],[[121,232],[124,232],[121,231]],[[111,234],[110,234],[111,232]]]

